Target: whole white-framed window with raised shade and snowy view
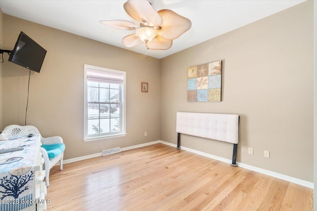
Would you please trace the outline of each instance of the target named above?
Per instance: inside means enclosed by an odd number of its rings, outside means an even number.
[[[84,141],[125,135],[125,72],[84,65]]]

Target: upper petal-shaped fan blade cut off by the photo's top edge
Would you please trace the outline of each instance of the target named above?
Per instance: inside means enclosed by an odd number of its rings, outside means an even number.
[[[146,26],[162,24],[162,17],[147,0],[128,0],[123,4],[123,8],[134,20]]]

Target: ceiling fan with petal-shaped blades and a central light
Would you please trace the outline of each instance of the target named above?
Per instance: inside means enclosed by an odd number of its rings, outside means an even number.
[[[125,47],[133,47],[144,43],[148,49],[166,50],[173,40],[184,34],[192,26],[192,22],[169,9],[158,12],[148,0],[128,0],[123,4],[128,15],[140,23],[140,26],[126,20],[101,20],[106,26],[115,29],[136,30],[135,34],[122,39]]]

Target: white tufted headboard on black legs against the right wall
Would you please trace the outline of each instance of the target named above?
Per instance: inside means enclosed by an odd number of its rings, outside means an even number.
[[[234,144],[232,165],[236,166],[239,136],[239,115],[177,112],[177,148],[180,149],[180,133],[210,138]]]

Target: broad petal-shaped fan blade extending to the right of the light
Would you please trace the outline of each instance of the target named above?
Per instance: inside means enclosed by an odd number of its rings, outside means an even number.
[[[188,31],[192,22],[176,12],[169,9],[162,9],[158,12],[163,18],[161,29],[157,30],[159,36],[166,40],[175,40]]]

